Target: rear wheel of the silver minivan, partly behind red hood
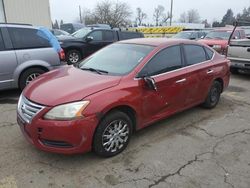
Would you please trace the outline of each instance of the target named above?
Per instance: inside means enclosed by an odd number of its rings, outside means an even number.
[[[30,68],[24,71],[19,78],[19,88],[23,90],[31,81],[45,72],[40,68]]]

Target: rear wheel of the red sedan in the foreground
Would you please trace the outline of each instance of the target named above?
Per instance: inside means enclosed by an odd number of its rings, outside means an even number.
[[[202,104],[204,108],[212,109],[217,106],[220,101],[222,85],[218,81],[214,81],[205,102]]]

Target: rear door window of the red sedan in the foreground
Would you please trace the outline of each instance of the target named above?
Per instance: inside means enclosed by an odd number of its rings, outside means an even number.
[[[207,60],[206,53],[202,46],[184,45],[187,65],[195,65]]]

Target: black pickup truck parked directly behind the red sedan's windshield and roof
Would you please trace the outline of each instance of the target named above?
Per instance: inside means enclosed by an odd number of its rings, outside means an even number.
[[[68,64],[76,64],[113,42],[142,37],[144,35],[139,32],[85,27],[70,37],[59,38],[59,41],[65,51]]]

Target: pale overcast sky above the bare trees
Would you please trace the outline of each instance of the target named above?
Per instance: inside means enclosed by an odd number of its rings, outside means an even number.
[[[96,3],[101,0],[50,0],[52,20],[73,22],[79,16],[79,5],[82,8],[93,9]],[[127,2],[131,10],[135,12],[141,7],[147,13],[147,22],[153,22],[153,12],[157,5],[163,5],[170,10],[171,0],[120,0]],[[180,14],[189,9],[197,9],[201,19],[208,19],[209,22],[221,20],[227,9],[231,8],[235,14],[242,12],[244,7],[250,6],[250,0],[174,0],[174,20],[178,20]],[[134,20],[135,15],[133,15]]]

